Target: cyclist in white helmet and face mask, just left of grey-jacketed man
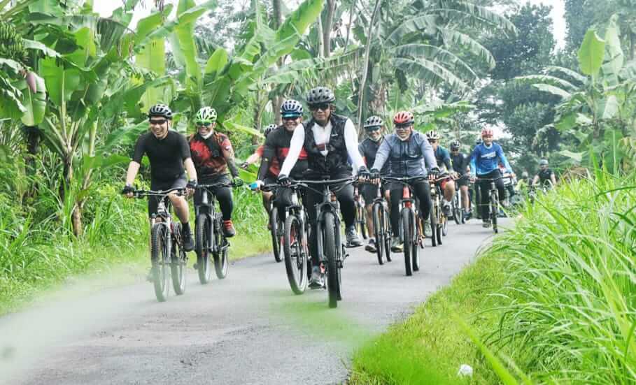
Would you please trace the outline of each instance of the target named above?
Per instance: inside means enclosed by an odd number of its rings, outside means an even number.
[[[362,159],[365,160],[367,167],[373,166],[376,160],[376,154],[380,145],[383,143],[382,131],[384,130],[384,122],[381,117],[372,116],[365,121],[365,133],[367,138],[362,140],[362,143],[358,146],[358,150],[362,155]],[[381,175],[386,175],[388,171],[388,164],[385,164],[380,170]],[[372,183],[360,184],[360,194],[365,199],[365,211],[367,214],[367,229],[369,230],[369,243],[365,246],[367,252],[376,252],[376,241],[372,234],[375,234],[373,227],[373,201],[378,196],[378,185]],[[385,192],[388,195],[388,191]],[[388,199],[388,197],[387,197]]]

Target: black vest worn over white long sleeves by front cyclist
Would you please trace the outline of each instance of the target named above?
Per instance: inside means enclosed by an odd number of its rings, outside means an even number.
[[[351,171],[351,165],[348,162],[348,152],[344,141],[344,125],[347,117],[331,114],[331,136],[327,143],[327,156],[320,154],[320,149],[316,147],[316,138],[313,137],[312,127],[316,124],[316,120],[311,118],[309,121],[303,122],[305,129],[304,147],[307,152],[307,161],[311,173],[321,175],[332,174],[337,171]]]

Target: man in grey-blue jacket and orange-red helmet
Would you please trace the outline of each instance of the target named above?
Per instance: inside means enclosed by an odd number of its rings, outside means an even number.
[[[422,177],[409,184],[420,201],[420,215],[428,218],[431,209],[430,184],[426,177],[430,171],[437,172],[437,161],[430,143],[423,133],[413,130],[413,113],[400,111],[393,117],[395,133],[387,135],[376,154],[376,160],[371,168],[372,182],[379,182],[380,170],[386,162],[389,164],[390,177]],[[402,200],[400,183],[390,184],[391,226],[393,239],[391,249],[402,252],[404,243],[400,240],[400,200]]]

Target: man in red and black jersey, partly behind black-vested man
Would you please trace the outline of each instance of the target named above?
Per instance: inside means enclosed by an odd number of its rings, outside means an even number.
[[[262,161],[258,169],[258,177],[255,182],[258,189],[262,184],[276,183],[278,170],[272,170],[272,165],[283,164],[287,154],[289,153],[290,143],[294,130],[302,123],[303,108],[299,101],[289,99],[281,105],[281,116],[283,117],[283,125],[267,134],[264,149],[262,152]],[[298,161],[291,170],[291,176],[295,179],[302,179],[302,175],[307,169],[307,153],[302,148],[298,156]],[[276,201],[274,204],[278,208],[278,217],[284,218],[285,208],[291,205],[291,190],[281,188],[276,191]],[[265,193],[263,193],[265,194]],[[269,195],[271,196],[271,192]]]

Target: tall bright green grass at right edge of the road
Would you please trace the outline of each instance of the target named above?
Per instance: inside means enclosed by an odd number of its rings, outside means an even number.
[[[574,180],[499,238],[506,305],[490,342],[539,381],[636,382],[635,175]]]

